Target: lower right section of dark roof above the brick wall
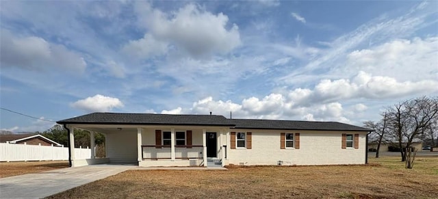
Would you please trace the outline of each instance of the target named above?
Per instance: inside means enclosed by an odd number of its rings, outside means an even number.
[[[235,129],[281,129],[281,130],[324,130],[324,131],[373,131],[341,122],[309,122],[293,120],[250,120],[232,119]]]

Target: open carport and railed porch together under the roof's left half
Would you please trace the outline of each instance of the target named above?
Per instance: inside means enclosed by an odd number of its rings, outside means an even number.
[[[106,158],[75,159],[73,167],[99,163],[138,163],[140,167],[223,167],[229,129],[214,127],[133,126],[114,124],[68,125],[103,133]],[[70,141],[74,140],[70,133]],[[93,137],[93,136],[91,136]],[[74,146],[74,142],[70,142]]]

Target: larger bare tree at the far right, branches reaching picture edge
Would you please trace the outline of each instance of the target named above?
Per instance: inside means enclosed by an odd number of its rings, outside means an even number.
[[[387,109],[391,135],[398,142],[402,161],[406,160],[403,148],[410,148],[438,118],[438,98],[426,96],[398,103]]]

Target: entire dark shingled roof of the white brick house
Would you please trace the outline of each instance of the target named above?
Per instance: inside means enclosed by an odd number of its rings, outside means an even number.
[[[166,114],[118,114],[93,113],[66,120],[58,124],[155,124],[224,126],[235,129],[279,129],[279,130],[324,130],[324,131],[372,131],[340,122],[308,122],[293,120],[250,120],[227,119],[224,116],[209,115],[166,115]]]

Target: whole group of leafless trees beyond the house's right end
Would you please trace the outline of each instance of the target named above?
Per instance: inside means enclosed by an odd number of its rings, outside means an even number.
[[[376,157],[382,143],[400,148],[402,161],[406,160],[403,148],[410,148],[417,140],[431,140],[430,146],[438,146],[438,97],[402,101],[386,107],[381,116],[381,120],[364,122],[365,127],[374,129],[369,138],[377,143]]]

